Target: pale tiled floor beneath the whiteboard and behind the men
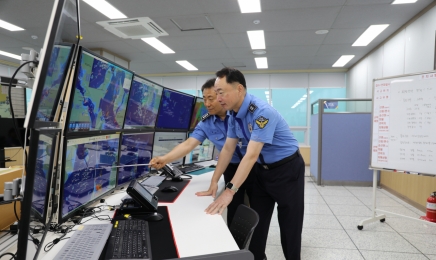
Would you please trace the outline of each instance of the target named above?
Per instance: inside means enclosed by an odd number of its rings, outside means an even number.
[[[371,216],[372,187],[317,186],[306,177],[301,259],[436,260],[436,227],[387,216],[359,231]],[[380,209],[418,218],[425,215],[383,189],[377,190]],[[266,254],[285,259],[280,244],[277,211],[271,220]]]

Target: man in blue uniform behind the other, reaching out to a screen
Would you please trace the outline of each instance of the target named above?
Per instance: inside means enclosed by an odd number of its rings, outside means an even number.
[[[213,89],[213,85],[215,84],[215,78],[209,79],[206,83],[201,87],[201,91],[203,92],[204,105],[206,106],[208,113],[203,115],[202,120],[195,127],[194,132],[191,137],[188,138],[185,142],[176,146],[171,152],[167,153],[161,157],[155,157],[150,161],[151,167],[160,169],[165,164],[170,163],[178,158],[181,158],[187,155],[190,151],[192,151],[195,147],[201,144],[206,138],[209,139],[215,147],[221,151],[224,142],[226,140],[227,135],[227,121],[229,116],[227,115],[227,111],[218,103],[216,98],[216,93]],[[230,163],[224,171],[224,181],[226,183],[230,182],[230,180],[235,175],[236,169],[238,168],[239,162],[241,161],[243,154],[245,153],[247,147],[247,143],[241,145],[235,149],[235,152],[230,158]],[[218,180],[221,177],[220,173],[213,175],[209,190],[197,192],[198,196],[216,196],[216,192],[218,190]],[[253,174],[249,175],[247,181],[240,188],[240,193],[234,197],[232,203],[230,203],[227,207],[227,225],[230,226],[232,222],[233,216],[235,215],[236,209],[239,204],[244,204],[244,194],[245,192],[248,195],[250,200],[253,186]]]

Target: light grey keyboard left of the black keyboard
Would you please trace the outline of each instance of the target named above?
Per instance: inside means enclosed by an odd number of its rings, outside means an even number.
[[[53,259],[98,260],[111,231],[112,224],[80,225]]]

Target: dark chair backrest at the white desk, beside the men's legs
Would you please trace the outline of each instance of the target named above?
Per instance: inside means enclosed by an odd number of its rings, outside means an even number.
[[[256,211],[243,204],[238,206],[230,224],[230,233],[232,233],[239,249],[248,249],[251,236],[258,222],[259,215]]]

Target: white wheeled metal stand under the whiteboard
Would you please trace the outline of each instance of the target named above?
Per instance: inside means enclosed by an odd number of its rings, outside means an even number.
[[[398,216],[398,217],[402,217],[402,218],[407,218],[407,219],[410,219],[410,220],[421,222],[422,224],[426,224],[426,225],[429,225],[429,226],[436,227],[436,223],[434,223],[434,222],[422,220],[422,219],[419,219],[419,218],[413,218],[413,217],[397,214],[397,213],[386,211],[386,210],[377,209],[376,208],[377,171],[378,170],[374,169],[373,170],[373,175],[372,175],[372,177],[373,177],[373,179],[372,179],[372,217],[360,221],[359,225],[357,226],[357,229],[362,230],[363,229],[363,225],[369,224],[369,223],[372,223],[372,222],[376,222],[377,220],[380,220],[380,222],[385,222],[386,215],[385,214],[381,214],[381,215],[377,216],[377,212],[379,212],[379,213],[386,213],[386,214],[389,214],[389,215],[394,215],[394,216]]]

